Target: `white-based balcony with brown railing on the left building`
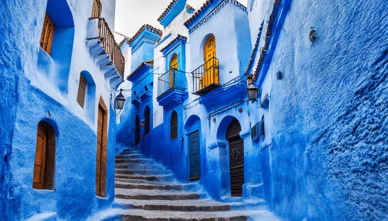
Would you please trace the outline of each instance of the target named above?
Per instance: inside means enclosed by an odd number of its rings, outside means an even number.
[[[104,18],[89,18],[86,45],[105,77],[124,77],[124,56]]]

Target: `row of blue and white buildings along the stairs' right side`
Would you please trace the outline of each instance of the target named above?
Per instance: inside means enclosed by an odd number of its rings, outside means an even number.
[[[385,1],[172,1],[140,59],[152,123],[143,137],[139,110],[132,146],[213,199],[265,201],[289,220],[388,219],[387,13]]]

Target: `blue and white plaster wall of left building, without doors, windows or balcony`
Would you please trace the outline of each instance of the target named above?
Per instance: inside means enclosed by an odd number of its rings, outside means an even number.
[[[102,15],[113,31],[114,1],[101,2]],[[56,26],[51,56],[39,46],[46,3]],[[6,201],[1,207],[5,209],[2,219],[24,220],[34,214],[55,211],[59,219],[84,220],[110,206],[114,198],[116,132],[110,94],[116,90],[118,81],[105,79],[85,44],[92,1],[85,4],[71,0],[6,1],[0,7],[2,21],[7,21],[2,22],[2,29],[9,33],[0,37],[2,48],[7,48],[3,50],[7,53],[1,55],[2,91],[12,94],[1,96],[9,102],[6,116],[1,118],[4,121],[1,131],[6,138],[2,159],[7,156],[6,161],[2,160],[7,171],[1,179],[0,194]],[[26,14],[31,8],[36,13]],[[76,101],[81,72],[88,82],[84,109]],[[100,96],[109,118],[106,198],[95,196]],[[49,120],[46,111],[51,113]],[[55,190],[32,188],[36,130],[41,120],[55,131]]]

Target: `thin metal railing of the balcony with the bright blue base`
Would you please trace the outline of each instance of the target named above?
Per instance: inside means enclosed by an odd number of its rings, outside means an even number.
[[[170,88],[179,87],[185,89],[185,72],[172,68],[158,77],[158,97]]]

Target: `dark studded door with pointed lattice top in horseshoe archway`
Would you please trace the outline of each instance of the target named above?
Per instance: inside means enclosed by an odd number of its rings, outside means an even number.
[[[230,193],[232,196],[242,196],[244,184],[244,141],[240,137],[241,125],[235,118],[226,132],[229,142]]]

